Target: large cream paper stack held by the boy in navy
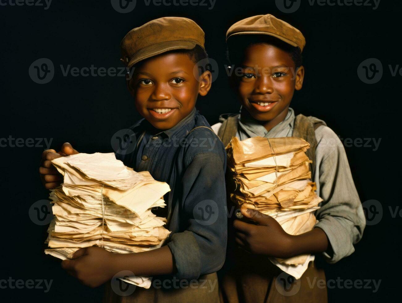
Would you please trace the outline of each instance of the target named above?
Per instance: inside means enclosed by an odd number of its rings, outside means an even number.
[[[93,245],[132,253],[158,248],[168,237],[166,219],[151,212],[166,205],[167,183],[154,180],[147,171],[133,171],[114,153],[80,153],[52,163],[64,182],[49,196],[54,217],[46,254],[65,260]],[[146,288],[151,283],[148,277],[132,282]]]

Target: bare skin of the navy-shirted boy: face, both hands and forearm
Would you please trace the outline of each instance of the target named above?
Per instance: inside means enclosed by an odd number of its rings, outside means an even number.
[[[195,107],[198,95],[207,95],[211,88],[211,73],[205,71],[195,77],[194,64],[187,54],[169,52],[144,60],[135,68],[131,80],[127,77],[135,107],[158,130],[172,128],[183,120]],[[158,115],[151,112],[154,108],[172,111]],[[45,188],[55,188],[62,182],[51,160],[76,153],[70,143],[64,143],[58,153],[43,152],[39,173]],[[137,276],[172,274],[176,270],[168,246],[135,254],[113,254],[100,247],[86,247],[76,251],[73,260],[62,261],[62,268],[89,287],[98,287],[122,270]]]

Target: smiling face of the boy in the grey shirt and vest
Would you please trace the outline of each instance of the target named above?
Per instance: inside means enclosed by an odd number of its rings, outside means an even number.
[[[296,71],[290,54],[281,48],[258,43],[245,49],[234,74],[241,104],[269,130],[285,119],[295,89],[303,85],[304,68]]]

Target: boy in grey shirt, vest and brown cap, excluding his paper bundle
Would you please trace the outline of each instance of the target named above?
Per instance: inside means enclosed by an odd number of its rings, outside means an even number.
[[[248,221],[234,220],[230,224],[232,239],[226,265],[220,272],[221,299],[326,302],[325,283],[322,287],[312,282],[325,281],[323,270],[310,262],[295,282],[300,289],[283,295],[289,287],[278,283],[283,272],[267,258],[322,254],[329,263],[335,263],[353,253],[353,244],[361,239],[365,227],[361,202],[338,136],[324,121],[295,116],[289,107],[294,91],[303,85],[301,52],[306,40],[299,30],[267,14],[235,23],[226,33],[226,41],[230,83],[242,106],[238,114],[221,115],[213,130],[225,146],[232,136],[240,140],[255,136],[304,138],[310,143],[307,155],[313,161],[312,179],[324,201],[316,211],[314,229],[301,235],[288,235],[270,216],[242,209]]]

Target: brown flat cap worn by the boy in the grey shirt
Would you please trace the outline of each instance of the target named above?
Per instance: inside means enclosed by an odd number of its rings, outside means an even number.
[[[252,16],[236,22],[226,32],[226,41],[234,35],[270,35],[299,47],[303,52],[306,39],[303,34],[289,23],[275,18],[271,14]]]

